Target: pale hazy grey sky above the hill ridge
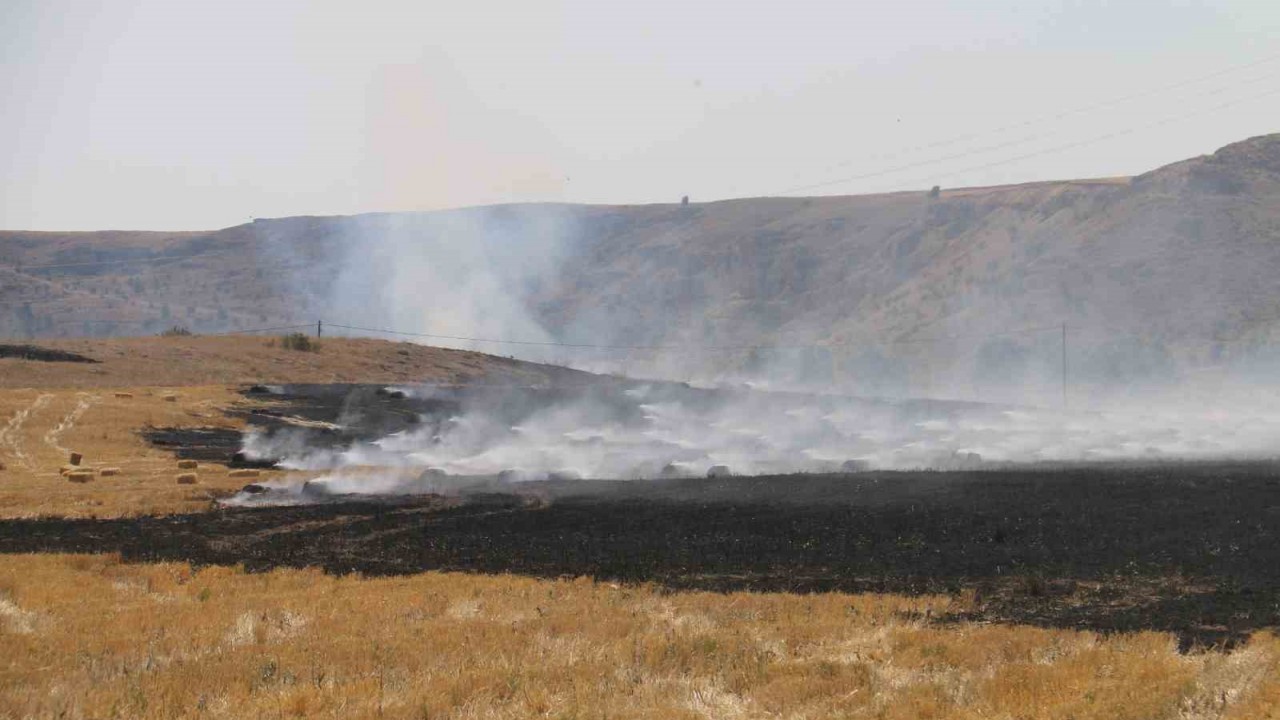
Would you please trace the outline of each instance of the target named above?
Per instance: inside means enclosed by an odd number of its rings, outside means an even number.
[[[1280,132],[1274,0],[3,0],[0,229],[1134,174]]]

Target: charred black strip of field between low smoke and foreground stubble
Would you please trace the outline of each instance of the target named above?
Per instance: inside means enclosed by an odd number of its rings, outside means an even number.
[[[506,493],[0,521],[0,552],[588,575],[676,589],[972,593],[948,620],[1172,632],[1280,625],[1280,468],[1180,464],[554,482]]]

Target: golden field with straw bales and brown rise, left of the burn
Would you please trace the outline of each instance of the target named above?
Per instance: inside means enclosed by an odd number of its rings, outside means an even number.
[[[0,359],[0,518],[115,518],[193,512],[246,480],[205,465],[178,484],[174,457],[146,445],[145,427],[241,427],[220,410],[250,405],[238,384],[270,382],[538,383],[545,370],[502,357],[376,340],[324,340],[317,352],[275,337],[143,337],[42,343],[100,360]],[[90,482],[68,482],[72,451]],[[119,473],[104,477],[104,468]],[[276,473],[265,471],[264,477]]]

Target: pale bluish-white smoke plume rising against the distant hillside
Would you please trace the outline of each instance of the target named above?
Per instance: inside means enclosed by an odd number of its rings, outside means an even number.
[[[557,277],[580,238],[575,215],[563,206],[307,220],[261,220],[253,229],[266,261],[293,265],[280,277],[289,286],[287,295],[330,324],[534,343],[554,340],[529,299]],[[445,337],[419,341],[547,357],[536,346]]]

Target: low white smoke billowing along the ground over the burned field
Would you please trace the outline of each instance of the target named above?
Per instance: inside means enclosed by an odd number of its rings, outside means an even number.
[[[251,433],[247,456],[276,459],[312,478],[237,502],[580,478],[1263,459],[1275,456],[1280,436],[1280,410],[1262,405],[1065,413],[622,382],[572,391],[407,389],[419,401],[447,402],[425,413],[416,429],[339,447],[320,446],[305,429]]]

